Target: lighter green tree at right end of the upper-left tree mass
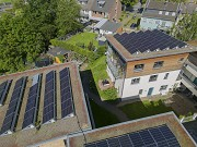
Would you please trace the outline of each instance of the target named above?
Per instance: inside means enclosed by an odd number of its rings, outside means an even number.
[[[56,15],[58,36],[76,32],[82,27],[79,23],[80,5],[76,0],[59,0]]]

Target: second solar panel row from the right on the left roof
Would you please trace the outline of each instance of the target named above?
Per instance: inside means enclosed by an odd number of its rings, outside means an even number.
[[[46,74],[43,123],[56,120],[56,72]]]

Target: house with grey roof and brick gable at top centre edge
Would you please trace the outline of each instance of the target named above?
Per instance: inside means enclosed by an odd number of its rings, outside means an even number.
[[[78,0],[81,5],[82,21],[107,19],[117,22],[121,15],[120,0]]]

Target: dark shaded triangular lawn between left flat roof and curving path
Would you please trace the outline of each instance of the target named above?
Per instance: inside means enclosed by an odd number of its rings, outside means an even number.
[[[104,108],[97,106],[93,100],[90,101],[94,123],[96,127],[107,126],[112,124],[119,123],[116,115],[112,114]]]

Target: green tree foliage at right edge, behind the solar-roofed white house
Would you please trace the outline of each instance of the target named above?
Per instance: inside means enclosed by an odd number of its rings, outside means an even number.
[[[176,38],[188,41],[197,38],[197,13],[192,15],[186,14],[178,23],[175,25],[171,34]]]

